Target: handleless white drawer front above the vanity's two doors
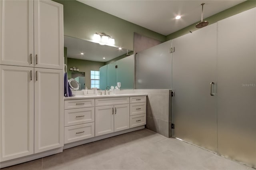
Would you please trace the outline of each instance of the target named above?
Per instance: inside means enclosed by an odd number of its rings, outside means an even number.
[[[95,106],[129,104],[129,97],[112,97],[95,99]]]

